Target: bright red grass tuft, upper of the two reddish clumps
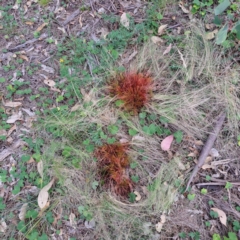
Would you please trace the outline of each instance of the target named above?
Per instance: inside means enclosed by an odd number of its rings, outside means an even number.
[[[109,93],[123,101],[126,111],[136,115],[151,99],[152,82],[147,73],[120,73],[109,81]]]

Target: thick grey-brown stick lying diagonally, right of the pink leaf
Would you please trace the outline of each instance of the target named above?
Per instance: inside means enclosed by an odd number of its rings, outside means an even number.
[[[207,142],[205,143],[203,149],[202,149],[202,152],[199,156],[199,159],[198,159],[198,163],[197,165],[195,166],[195,168],[193,169],[193,172],[189,178],[189,181],[187,183],[187,187],[186,187],[186,190],[188,189],[189,185],[191,184],[193,178],[197,175],[199,169],[202,167],[202,165],[204,164],[205,162],[205,159],[207,158],[210,150],[212,149],[213,147],[213,144],[222,128],[222,125],[223,125],[223,122],[225,120],[225,117],[226,117],[226,114],[225,113],[221,113],[220,114],[220,117],[219,119],[217,120],[217,123],[216,123],[216,126],[215,128],[213,129],[213,132],[210,133],[210,135],[208,136],[208,139],[207,139]]]

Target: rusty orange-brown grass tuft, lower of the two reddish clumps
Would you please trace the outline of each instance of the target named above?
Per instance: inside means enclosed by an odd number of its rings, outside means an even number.
[[[132,190],[132,181],[126,175],[129,166],[128,144],[105,144],[95,151],[99,173],[104,183],[121,196],[127,196]]]

